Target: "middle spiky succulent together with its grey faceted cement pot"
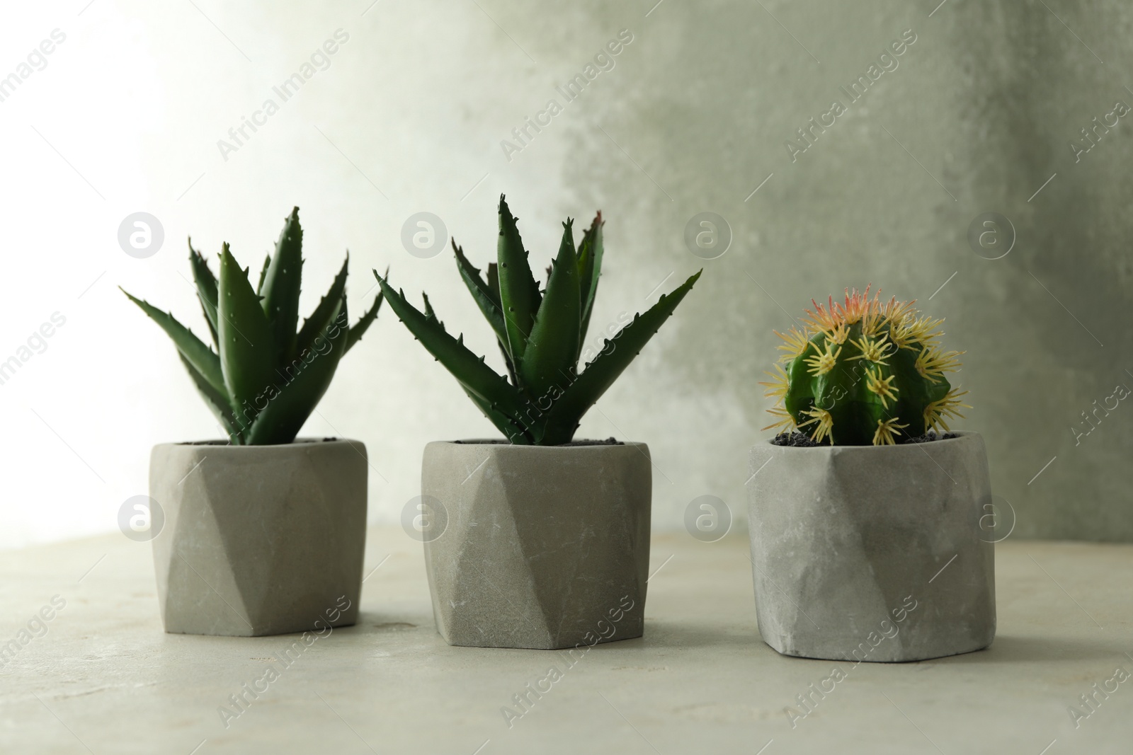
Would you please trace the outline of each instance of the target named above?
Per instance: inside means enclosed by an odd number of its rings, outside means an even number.
[[[572,221],[545,289],[500,198],[496,263],[483,277],[453,241],[457,269],[495,333],[508,377],[377,275],[394,314],[452,372],[500,440],[425,447],[421,499],[446,520],[426,537],[437,630],[452,645],[573,647],[644,629],[651,462],[644,443],[573,440],[610,387],[696,283],[691,276],[603,341],[578,371],[602,272],[602,213],[576,250]],[[613,332],[613,326],[607,333]],[[429,512],[432,508],[434,511]]]

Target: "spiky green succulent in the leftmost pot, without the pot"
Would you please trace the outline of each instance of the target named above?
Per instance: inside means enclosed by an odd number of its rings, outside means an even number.
[[[163,312],[130,295],[173,340],[185,369],[233,445],[262,446],[295,440],[334,377],[339,360],[377,317],[373,307],[352,327],[347,315],[347,267],[315,311],[299,324],[303,278],[303,228],[299,208],[283,224],[274,256],[264,259],[259,283],[252,288],[248,268],[240,268],[223,244],[220,275],[189,240],[189,264],[197,299],[215,346],[206,345]]]

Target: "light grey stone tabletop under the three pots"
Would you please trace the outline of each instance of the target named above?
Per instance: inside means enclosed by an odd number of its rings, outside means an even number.
[[[656,537],[645,636],[573,660],[448,646],[400,529],[369,532],[358,626],[309,646],[164,634],[148,544],[121,535],[3,551],[0,753],[1133,752],[1133,678],[1113,680],[1133,672],[1133,546],[1000,543],[989,650],[858,667],[759,640],[747,551]]]

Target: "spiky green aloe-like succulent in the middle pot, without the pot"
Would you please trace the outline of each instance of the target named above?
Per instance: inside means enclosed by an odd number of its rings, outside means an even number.
[[[496,261],[488,264],[486,278],[452,242],[457,269],[495,333],[508,377],[465,346],[463,334],[454,338],[444,329],[427,294],[421,312],[377,271],[374,276],[394,314],[511,443],[568,444],[582,415],[673,314],[700,273],[672,293],[662,294],[644,315],[634,315],[613,337],[605,338],[602,351],[579,372],[602,273],[602,213],[583,232],[577,250],[573,221],[563,223],[562,243],[547,269],[544,290],[531,273],[517,220],[501,196]]]

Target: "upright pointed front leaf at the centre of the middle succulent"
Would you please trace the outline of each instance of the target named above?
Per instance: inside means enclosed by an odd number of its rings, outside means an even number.
[[[527,352],[519,363],[519,377],[533,397],[547,394],[551,386],[569,385],[578,366],[579,325],[578,257],[572,222],[563,223],[559,256],[552,264],[547,292],[531,326]]]

